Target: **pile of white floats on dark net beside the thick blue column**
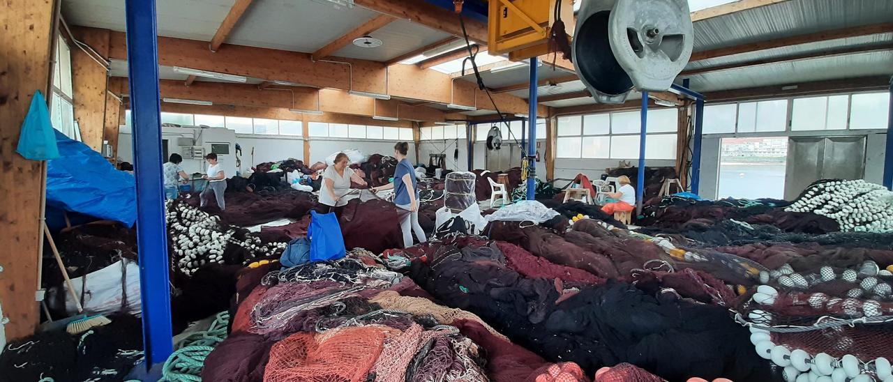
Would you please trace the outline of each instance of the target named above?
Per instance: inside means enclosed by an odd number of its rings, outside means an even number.
[[[273,257],[287,243],[262,243],[247,229],[233,228],[218,216],[181,200],[167,203],[171,269],[192,275],[206,264],[241,264],[256,257]]]

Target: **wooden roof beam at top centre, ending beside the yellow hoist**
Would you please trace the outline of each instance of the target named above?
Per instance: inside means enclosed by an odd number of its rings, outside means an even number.
[[[463,36],[459,17],[454,12],[423,0],[354,0],[354,4],[401,20],[413,21],[456,37]],[[487,44],[487,24],[471,19],[464,21],[468,38],[479,44]]]

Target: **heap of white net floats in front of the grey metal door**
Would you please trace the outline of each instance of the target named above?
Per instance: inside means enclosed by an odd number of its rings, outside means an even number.
[[[826,216],[844,231],[893,231],[893,192],[863,179],[816,181],[785,211]]]

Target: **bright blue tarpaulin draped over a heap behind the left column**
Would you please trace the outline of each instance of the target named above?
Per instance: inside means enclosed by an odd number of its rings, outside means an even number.
[[[88,145],[55,131],[59,158],[47,161],[46,210],[77,212],[132,227],[137,220],[133,174],[115,169]]]

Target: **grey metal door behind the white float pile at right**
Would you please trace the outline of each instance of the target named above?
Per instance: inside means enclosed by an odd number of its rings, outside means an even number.
[[[790,137],[785,199],[819,179],[863,179],[865,137]]]

